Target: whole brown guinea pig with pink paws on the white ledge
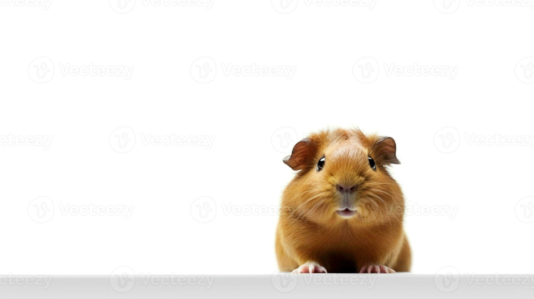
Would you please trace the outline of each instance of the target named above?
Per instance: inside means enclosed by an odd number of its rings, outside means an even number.
[[[280,269],[293,273],[410,271],[404,197],[386,166],[395,140],[358,129],[313,133],[284,159],[299,170],[282,195]]]

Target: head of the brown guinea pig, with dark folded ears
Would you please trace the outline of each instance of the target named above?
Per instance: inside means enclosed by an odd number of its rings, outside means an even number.
[[[318,223],[402,219],[403,195],[386,168],[399,163],[391,137],[322,131],[299,141],[284,163],[299,170],[282,200],[293,216]]]

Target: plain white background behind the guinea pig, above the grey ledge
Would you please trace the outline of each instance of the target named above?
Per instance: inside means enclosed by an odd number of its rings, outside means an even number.
[[[115,1],[0,0],[1,273],[273,273],[281,159],[353,126],[397,141],[414,273],[532,272],[530,2]],[[253,65],[295,72],[237,73]],[[90,204],[133,211],[73,210]]]

